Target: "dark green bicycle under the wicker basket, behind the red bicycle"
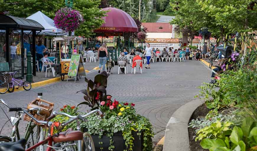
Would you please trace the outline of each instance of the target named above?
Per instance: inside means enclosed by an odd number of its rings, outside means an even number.
[[[0,103],[3,103],[7,108],[9,108],[9,111],[11,110],[11,106],[9,104],[7,104],[4,100],[0,99]],[[1,107],[1,106],[0,106]],[[2,108],[2,107],[1,107]],[[2,109],[3,110],[3,109]],[[40,108],[30,108],[28,109],[28,111],[34,111],[36,112],[38,115],[40,115]],[[3,110],[4,112],[4,110]],[[4,112],[5,113],[5,112]],[[10,136],[0,136],[0,143],[2,142],[16,142],[18,140],[20,140],[20,134],[19,134],[19,121],[22,119],[22,111],[17,111],[15,114],[15,117],[11,116],[11,120],[8,118],[8,121],[11,122],[12,124],[12,132],[10,134]],[[6,121],[5,124],[8,122]],[[4,126],[5,126],[4,124]],[[2,129],[4,128],[4,126],[2,127]],[[2,131],[1,129],[1,131]],[[1,134],[0,131],[0,134]],[[30,147],[31,145],[34,145],[35,142],[38,141],[39,139],[39,135],[40,135],[40,126],[33,124],[33,121],[30,120],[26,126],[26,131],[24,134],[24,138],[27,140],[26,141],[26,148]]]

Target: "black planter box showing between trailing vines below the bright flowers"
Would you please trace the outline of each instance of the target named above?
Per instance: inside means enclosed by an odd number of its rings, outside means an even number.
[[[132,147],[133,151],[142,151],[143,148],[143,133],[141,132],[140,135],[137,135],[137,132],[133,131],[132,135],[134,137],[134,146]],[[106,135],[103,135],[99,139],[99,135],[91,135],[94,145],[95,145],[95,150],[101,150],[101,151],[109,151],[110,147],[110,137],[107,137]],[[123,151],[123,150],[128,150],[125,145],[125,140],[123,139],[122,132],[117,132],[113,134],[113,146],[114,151]],[[102,144],[99,144],[99,142],[103,142]],[[102,148],[102,149],[101,149]]]

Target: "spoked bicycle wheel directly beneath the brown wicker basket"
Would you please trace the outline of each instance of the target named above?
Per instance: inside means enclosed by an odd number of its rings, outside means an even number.
[[[26,148],[29,148],[37,144],[37,142],[39,141],[39,135],[40,135],[40,126],[32,124],[30,126],[30,129],[28,130],[27,135],[24,137],[27,140]]]

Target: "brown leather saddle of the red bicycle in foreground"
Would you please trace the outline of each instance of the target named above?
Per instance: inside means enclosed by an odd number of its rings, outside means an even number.
[[[66,131],[60,132],[58,137],[53,137],[53,142],[70,142],[83,139],[83,133],[81,131],[73,131],[71,128]]]

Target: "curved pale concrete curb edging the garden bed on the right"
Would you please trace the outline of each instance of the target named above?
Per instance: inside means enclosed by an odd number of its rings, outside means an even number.
[[[173,113],[166,126],[163,151],[190,151],[188,122],[195,109],[202,103],[202,100],[193,100]]]

